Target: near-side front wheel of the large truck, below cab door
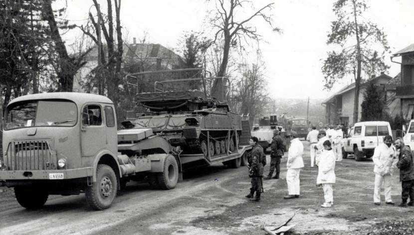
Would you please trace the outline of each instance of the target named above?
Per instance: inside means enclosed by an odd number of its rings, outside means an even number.
[[[93,210],[104,210],[111,207],[118,189],[114,170],[104,164],[96,169],[96,182],[86,187],[86,201]]]

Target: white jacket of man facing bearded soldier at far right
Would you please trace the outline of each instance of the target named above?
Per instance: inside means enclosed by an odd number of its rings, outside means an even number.
[[[375,147],[372,161],[375,164],[375,173],[380,175],[392,174],[395,169],[395,164],[393,163],[398,161],[394,145],[388,147],[387,144],[380,143],[377,147]]]

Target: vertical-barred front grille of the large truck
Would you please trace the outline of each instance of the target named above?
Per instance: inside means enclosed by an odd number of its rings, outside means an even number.
[[[55,170],[56,151],[46,140],[11,141],[4,163],[9,170]]]

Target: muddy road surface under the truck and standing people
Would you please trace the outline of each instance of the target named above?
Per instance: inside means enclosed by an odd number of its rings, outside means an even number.
[[[295,212],[291,223],[296,224],[298,232],[349,233],[412,212],[411,208],[374,207],[373,163],[354,159],[337,163],[335,205],[320,208],[323,192],[315,186],[317,168],[310,168],[309,144],[303,143],[305,168],[301,171],[299,199],[282,199],[287,193],[286,158],[281,165],[282,179],[264,181],[265,192],[260,203],[244,198],[249,188],[245,167],[227,169],[214,165],[187,173],[174,190],[151,190],[145,183],[130,182],[105,211],[90,210],[83,195],[53,197],[36,211],[12,202],[0,211],[0,235],[262,235],[262,226],[275,226]],[[265,169],[267,173],[268,165]],[[398,172],[393,183],[393,199],[400,202]]]

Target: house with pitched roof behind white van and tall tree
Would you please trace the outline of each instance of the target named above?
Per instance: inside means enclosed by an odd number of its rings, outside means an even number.
[[[361,84],[359,104],[358,104],[358,117],[361,118],[361,104],[363,101],[363,94],[365,88],[369,83],[375,83],[382,86],[385,89],[388,82],[393,78],[382,73],[380,76],[372,78]],[[349,125],[354,120],[354,101],[355,101],[355,83],[345,86],[331,97],[322,102],[322,106],[325,107],[325,122],[326,124],[342,124]]]

